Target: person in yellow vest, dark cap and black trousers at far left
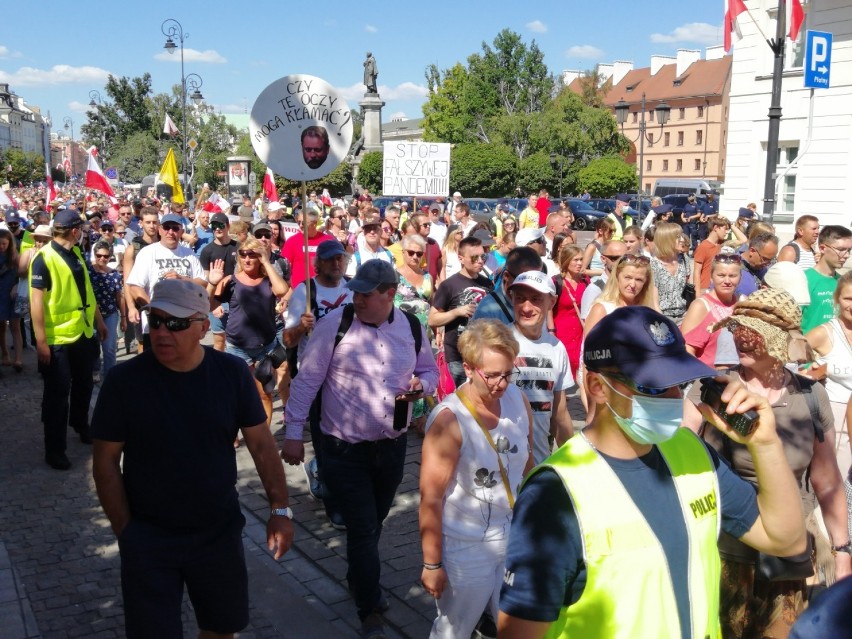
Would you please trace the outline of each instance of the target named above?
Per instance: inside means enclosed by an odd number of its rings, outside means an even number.
[[[44,378],[41,420],[45,462],[57,470],[71,467],[65,454],[68,424],[80,435],[81,442],[92,443],[92,370],[99,352],[98,337],[107,337],[78,246],[83,233],[83,219],[78,212],[60,211],[53,221],[53,240],[30,265],[30,312]]]

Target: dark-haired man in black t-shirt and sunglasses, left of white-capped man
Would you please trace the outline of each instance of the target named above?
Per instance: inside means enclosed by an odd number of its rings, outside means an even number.
[[[444,358],[456,387],[466,379],[456,346],[459,335],[476,311],[476,305],[494,289],[491,280],[481,274],[485,266],[482,241],[466,237],[459,242],[458,253],[461,271],[441,283],[429,311],[429,326],[433,329],[444,327]]]

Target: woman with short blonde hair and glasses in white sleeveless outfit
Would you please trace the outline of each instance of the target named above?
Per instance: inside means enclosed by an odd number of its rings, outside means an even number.
[[[430,414],[420,466],[420,579],[438,609],[431,638],[468,639],[483,610],[497,618],[512,507],[532,468],[512,329],[476,320],[458,348],[467,381]]]

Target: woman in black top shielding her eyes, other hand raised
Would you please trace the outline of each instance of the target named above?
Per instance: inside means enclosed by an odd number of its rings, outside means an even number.
[[[255,370],[267,355],[283,349],[277,337],[275,305],[290,286],[269,261],[269,249],[254,237],[240,244],[234,274],[226,277],[224,268],[223,260],[216,260],[210,266],[207,290],[212,292],[211,306],[230,304],[225,352],[236,355]],[[271,378],[268,384],[255,379],[269,423],[275,376]]]

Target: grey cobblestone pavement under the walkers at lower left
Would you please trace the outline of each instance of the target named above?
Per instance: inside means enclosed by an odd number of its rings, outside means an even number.
[[[73,468],[59,472],[44,463],[42,385],[35,372],[35,353],[27,351],[24,363],[23,373],[16,375],[4,367],[0,379],[0,423],[6,437],[0,446],[0,636],[122,637],[118,547],[95,494],[91,447],[69,431]],[[131,393],[127,398],[128,410],[134,401],[142,401]],[[569,406],[577,423],[582,413],[579,402],[572,398]],[[273,420],[280,441],[279,401]],[[420,445],[412,433],[405,475],[380,548],[382,585],[391,601],[385,618],[388,636],[395,639],[426,637],[435,612],[434,601],[418,583]],[[310,454],[309,443],[307,448]],[[268,504],[244,446],[237,451],[237,463],[247,520],[243,540],[251,597],[251,622],[239,637],[357,636],[357,615],[345,583],[345,533],[331,527],[321,504],[310,497],[304,473],[286,466],[295,544],[275,562],[265,543]],[[195,636],[188,603],[183,619],[185,636]]]

